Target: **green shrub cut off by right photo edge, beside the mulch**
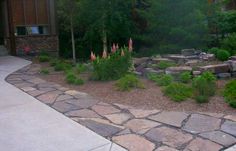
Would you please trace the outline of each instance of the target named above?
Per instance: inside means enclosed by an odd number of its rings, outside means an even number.
[[[236,108],[236,80],[232,80],[226,84],[224,98],[231,107]]]

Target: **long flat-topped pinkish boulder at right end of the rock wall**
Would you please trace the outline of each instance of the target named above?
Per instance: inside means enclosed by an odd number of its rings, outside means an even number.
[[[229,64],[216,64],[216,65],[208,65],[208,66],[203,66],[199,68],[200,71],[209,71],[214,74],[219,74],[219,73],[227,73],[230,71],[230,66]]]

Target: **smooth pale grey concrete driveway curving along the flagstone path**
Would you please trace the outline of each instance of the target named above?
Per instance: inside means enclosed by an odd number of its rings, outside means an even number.
[[[5,81],[30,63],[0,57],[1,151],[125,151]]]

